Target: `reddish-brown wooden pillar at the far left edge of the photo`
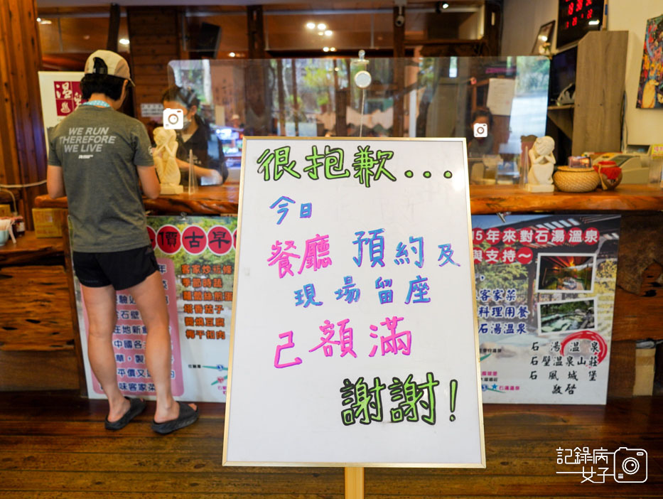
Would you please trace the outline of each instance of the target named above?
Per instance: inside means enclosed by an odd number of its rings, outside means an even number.
[[[46,146],[37,72],[41,47],[35,0],[5,0],[0,9],[0,183],[46,178]],[[12,188],[18,212],[32,229],[34,198],[44,186]]]

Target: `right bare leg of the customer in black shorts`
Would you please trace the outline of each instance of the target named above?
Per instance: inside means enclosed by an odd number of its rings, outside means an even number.
[[[154,272],[127,291],[134,296],[147,328],[145,361],[156,389],[154,421],[163,423],[177,419],[180,406],[176,404],[171,391],[171,335],[168,332],[168,308],[161,274]],[[195,404],[190,406],[195,409]]]

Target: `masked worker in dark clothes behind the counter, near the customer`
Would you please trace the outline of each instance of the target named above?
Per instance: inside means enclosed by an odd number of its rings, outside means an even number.
[[[177,163],[182,177],[180,183],[188,185],[189,151],[193,152],[195,176],[200,185],[220,185],[228,177],[221,141],[203,118],[198,116],[200,100],[195,92],[173,85],[163,91],[161,102],[164,109],[180,109],[184,113],[184,126],[177,130]],[[210,147],[211,146],[211,147]],[[218,158],[210,156],[209,150],[218,151]]]

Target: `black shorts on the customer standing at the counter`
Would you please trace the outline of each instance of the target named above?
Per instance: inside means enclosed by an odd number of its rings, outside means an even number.
[[[115,289],[127,289],[158,270],[151,246],[110,253],[75,251],[73,264],[80,284],[90,288],[112,284]]]

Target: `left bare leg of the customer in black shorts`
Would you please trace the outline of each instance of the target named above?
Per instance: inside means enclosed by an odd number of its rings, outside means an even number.
[[[92,372],[108,397],[109,422],[120,419],[129,410],[129,401],[117,387],[117,368],[112,335],[115,328],[115,290],[113,286],[80,286],[90,328],[87,331],[87,358]]]

